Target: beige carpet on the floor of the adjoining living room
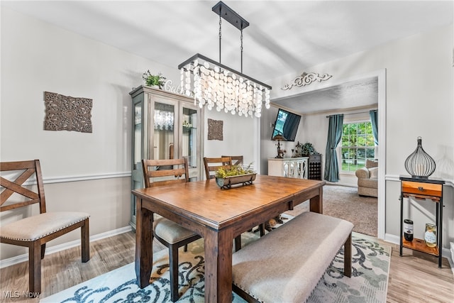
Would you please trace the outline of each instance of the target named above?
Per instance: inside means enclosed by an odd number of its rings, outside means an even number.
[[[323,214],[352,222],[358,233],[377,237],[377,205],[377,198],[360,197],[356,187],[323,186]],[[297,216],[308,209],[309,202],[304,202],[286,213]]]

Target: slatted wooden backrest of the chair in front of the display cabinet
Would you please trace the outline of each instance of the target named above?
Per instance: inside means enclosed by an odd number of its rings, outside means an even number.
[[[166,160],[142,160],[145,187],[189,182],[187,158]]]

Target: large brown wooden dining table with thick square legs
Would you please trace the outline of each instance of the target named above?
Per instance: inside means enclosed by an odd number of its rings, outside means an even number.
[[[257,175],[253,184],[221,189],[216,180],[134,189],[135,274],[140,288],[153,267],[153,214],[204,238],[205,302],[232,302],[232,243],[241,233],[309,200],[323,213],[325,181]]]

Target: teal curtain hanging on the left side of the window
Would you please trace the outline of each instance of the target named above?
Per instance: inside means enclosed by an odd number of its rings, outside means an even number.
[[[325,175],[329,182],[339,181],[339,164],[336,147],[342,138],[343,115],[329,116],[328,142],[326,143]]]

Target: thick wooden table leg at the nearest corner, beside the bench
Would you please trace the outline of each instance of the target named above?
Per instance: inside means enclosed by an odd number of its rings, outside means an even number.
[[[205,302],[232,302],[232,241],[232,228],[204,235]]]

